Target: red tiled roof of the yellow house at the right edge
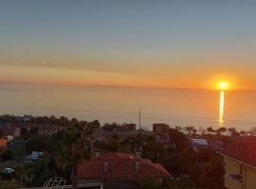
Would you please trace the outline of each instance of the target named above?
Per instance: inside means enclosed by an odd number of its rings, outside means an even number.
[[[256,139],[232,143],[218,150],[219,153],[256,167]]]

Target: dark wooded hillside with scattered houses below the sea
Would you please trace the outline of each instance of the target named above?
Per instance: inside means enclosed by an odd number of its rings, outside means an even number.
[[[77,188],[221,189],[247,180],[240,169],[230,167],[235,167],[236,160],[251,167],[254,159],[246,157],[246,152],[230,151],[229,146],[250,143],[253,147],[253,131],[164,123],[145,130],[132,123],[101,125],[98,120],[64,116],[3,115],[0,184],[5,188],[11,188],[11,183],[21,188],[43,187],[58,177],[65,180],[65,187]]]

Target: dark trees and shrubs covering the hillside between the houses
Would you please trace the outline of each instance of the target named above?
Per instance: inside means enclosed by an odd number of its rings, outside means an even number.
[[[0,116],[0,122],[16,123],[17,117],[13,115]],[[138,132],[136,136],[128,139],[120,139],[118,135],[113,135],[106,141],[94,142],[93,136],[97,129],[100,129],[99,121],[85,122],[75,118],[68,119],[64,116],[29,116],[28,125],[49,124],[62,127],[60,131],[51,135],[39,135],[37,127],[31,129],[22,128],[21,137],[15,140],[22,140],[26,143],[26,154],[32,151],[44,151],[41,160],[32,163],[15,162],[16,151],[7,149],[2,154],[2,164],[11,163],[15,165],[15,180],[20,180],[26,186],[42,186],[50,177],[64,177],[73,187],[77,186],[76,170],[83,161],[89,161],[93,155],[93,147],[102,151],[135,153],[137,149],[142,149],[142,157],[154,163],[161,163],[174,176],[174,180],[168,183],[170,188],[204,187],[209,189],[223,188],[224,165],[221,157],[210,149],[205,148],[199,151],[192,149],[189,138],[199,137],[210,140],[221,141],[229,144],[229,136],[256,135],[256,129],[250,131],[238,131],[234,128],[195,129],[192,126],[168,129],[166,133],[171,139],[171,145],[158,145],[155,143],[155,134],[143,134]],[[105,124],[101,129],[104,131],[122,130],[119,124]],[[128,129],[133,128],[134,125]],[[14,140],[14,142],[15,142]],[[11,165],[10,164],[10,165]],[[8,167],[9,165],[1,166]],[[13,167],[12,166],[12,167]],[[183,178],[184,177],[184,178]],[[8,178],[6,178],[8,179]],[[6,182],[5,182],[6,183]],[[16,184],[16,182],[13,182]],[[6,187],[6,186],[5,186]],[[154,179],[141,180],[140,188],[160,188]],[[11,188],[11,187],[10,187]]]

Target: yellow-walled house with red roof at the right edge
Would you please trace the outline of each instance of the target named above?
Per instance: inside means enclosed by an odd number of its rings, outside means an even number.
[[[225,163],[225,186],[229,189],[256,188],[256,140],[232,143],[217,151]]]

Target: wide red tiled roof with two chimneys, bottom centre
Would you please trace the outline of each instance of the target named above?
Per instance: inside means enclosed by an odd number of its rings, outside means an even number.
[[[139,171],[136,163],[139,161]],[[108,170],[104,172],[104,163]],[[83,180],[140,180],[142,178],[168,178],[171,174],[158,163],[146,159],[137,159],[133,154],[104,153],[93,158],[91,162],[83,162],[78,168],[78,177]]]

